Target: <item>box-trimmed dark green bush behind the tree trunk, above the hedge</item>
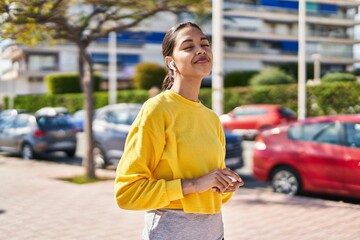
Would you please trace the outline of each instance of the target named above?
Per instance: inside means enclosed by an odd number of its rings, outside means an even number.
[[[100,89],[101,76],[94,74],[94,91]],[[78,73],[49,74],[45,82],[50,94],[81,93],[82,87]]]

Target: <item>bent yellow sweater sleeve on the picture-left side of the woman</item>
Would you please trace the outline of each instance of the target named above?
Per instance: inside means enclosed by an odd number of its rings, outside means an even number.
[[[151,121],[155,123],[150,122],[150,126],[161,126],[156,118]],[[164,145],[163,129],[153,130],[142,124],[132,127],[116,172],[115,198],[120,208],[151,210],[183,198],[181,179],[155,179],[152,175]]]

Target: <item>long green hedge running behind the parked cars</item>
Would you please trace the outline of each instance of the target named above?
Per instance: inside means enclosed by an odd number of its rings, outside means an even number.
[[[224,112],[239,105],[252,103],[278,103],[297,112],[297,84],[238,87],[224,90]],[[322,83],[307,86],[307,116],[329,114],[360,114],[360,84],[357,82]],[[121,90],[117,94],[117,102],[143,103],[148,99],[148,90]],[[94,107],[108,104],[107,92],[94,93]],[[200,101],[211,108],[212,90],[201,89]],[[70,112],[82,109],[83,94],[45,94],[15,97],[15,108],[35,112],[45,106],[63,106]],[[7,108],[8,99],[4,107]]]

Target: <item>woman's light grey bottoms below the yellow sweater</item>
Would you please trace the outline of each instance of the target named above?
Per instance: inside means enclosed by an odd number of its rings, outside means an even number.
[[[184,213],[157,209],[145,213],[143,240],[221,240],[224,225],[221,214]]]

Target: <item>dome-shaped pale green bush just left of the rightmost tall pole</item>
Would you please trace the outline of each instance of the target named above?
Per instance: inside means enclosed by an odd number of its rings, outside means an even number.
[[[274,67],[265,68],[250,80],[250,84],[252,86],[290,84],[295,82],[296,81],[293,77],[287,75],[279,68]]]

